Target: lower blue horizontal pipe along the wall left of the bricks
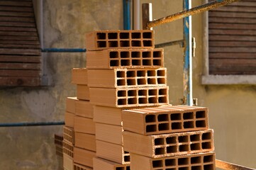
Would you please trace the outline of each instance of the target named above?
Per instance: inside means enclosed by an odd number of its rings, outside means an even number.
[[[0,123],[0,127],[46,126],[46,125],[65,125],[65,122],[58,121],[58,122],[38,122],[38,123]]]

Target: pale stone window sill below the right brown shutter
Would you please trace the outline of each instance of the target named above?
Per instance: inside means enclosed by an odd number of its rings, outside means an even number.
[[[203,75],[204,85],[256,84],[256,75]]]

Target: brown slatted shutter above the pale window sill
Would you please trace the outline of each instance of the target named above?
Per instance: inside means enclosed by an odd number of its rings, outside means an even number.
[[[256,74],[256,0],[208,11],[209,74]]]

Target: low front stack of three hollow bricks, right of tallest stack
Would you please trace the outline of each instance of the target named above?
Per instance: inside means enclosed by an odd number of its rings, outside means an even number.
[[[160,106],[123,110],[123,144],[130,168],[213,170],[213,130],[208,109]]]

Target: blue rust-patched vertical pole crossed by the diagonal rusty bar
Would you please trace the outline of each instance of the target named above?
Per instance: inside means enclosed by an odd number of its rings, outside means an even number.
[[[191,8],[191,0],[183,1],[183,10]],[[191,45],[191,16],[184,18],[184,68],[183,89],[184,104],[193,106],[192,98],[192,45]]]

